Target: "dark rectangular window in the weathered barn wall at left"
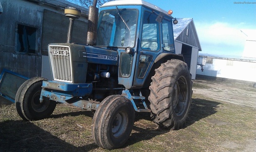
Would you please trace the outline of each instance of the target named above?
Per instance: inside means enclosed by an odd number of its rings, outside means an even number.
[[[17,52],[35,53],[36,28],[18,24]]]

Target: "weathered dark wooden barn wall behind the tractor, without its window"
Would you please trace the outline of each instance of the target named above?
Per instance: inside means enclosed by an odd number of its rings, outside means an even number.
[[[66,42],[68,17],[63,9],[25,0],[1,0],[1,5],[0,72],[5,68],[28,78],[41,76],[42,55],[47,55],[48,43]],[[81,16],[75,20],[72,42],[86,42],[86,19]],[[18,25],[36,29],[34,53],[19,51]]]

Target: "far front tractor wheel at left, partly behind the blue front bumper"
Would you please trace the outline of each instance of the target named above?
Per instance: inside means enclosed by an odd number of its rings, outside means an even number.
[[[45,78],[34,77],[19,87],[15,97],[15,106],[22,119],[26,121],[40,120],[53,113],[56,101],[51,101],[46,97],[41,103],[39,100],[44,80],[47,81]]]

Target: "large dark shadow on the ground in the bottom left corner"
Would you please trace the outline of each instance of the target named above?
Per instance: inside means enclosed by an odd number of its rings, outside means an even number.
[[[85,148],[75,147],[40,129],[31,122],[4,121],[0,123],[1,152],[84,152]],[[96,148],[96,145],[87,147]]]

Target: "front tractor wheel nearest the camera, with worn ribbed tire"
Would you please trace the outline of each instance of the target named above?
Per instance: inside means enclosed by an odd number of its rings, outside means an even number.
[[[108,150],[124,145],[133,128],[134,113],[133,105],[126,97],[110,95],[105,98],[93,117],[94,142]]]

